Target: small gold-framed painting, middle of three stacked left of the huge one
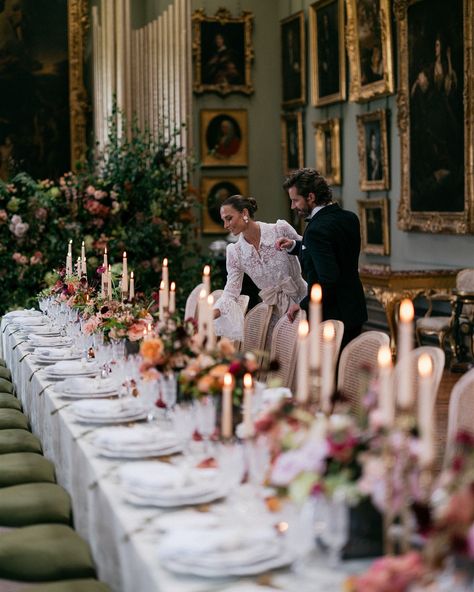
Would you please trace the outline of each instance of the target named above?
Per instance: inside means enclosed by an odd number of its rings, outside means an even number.
[[[387,111],[357,115],[359,185],[362,191],[390,188]]]

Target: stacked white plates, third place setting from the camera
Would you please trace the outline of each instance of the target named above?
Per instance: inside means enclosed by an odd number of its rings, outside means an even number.
[[[109,458],[146,458],[182,450],[174,432],[143,425],[104,428],[97,433],[94,445],[102,456]]]

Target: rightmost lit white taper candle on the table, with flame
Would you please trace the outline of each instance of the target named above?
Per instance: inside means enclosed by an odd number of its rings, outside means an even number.
[[[421,436],[420,464],[429,467],[435,457],[433,426],[433,362],[431,356],[418,358],[418,428]]]

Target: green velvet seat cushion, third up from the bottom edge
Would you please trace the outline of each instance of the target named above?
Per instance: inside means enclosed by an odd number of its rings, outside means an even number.
[[[24,483],[0,489],[0,526],[71,523],[71,500],[54,483]]]

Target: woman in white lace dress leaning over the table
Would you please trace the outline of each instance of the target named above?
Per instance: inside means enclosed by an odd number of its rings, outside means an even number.
[[[216,335],[229,339],[243,337],[244,317],[237,299],[244,273],[259,288],[260,298],[273,306],[270,332],[289,305],[300,302],[307,293],[297,257],[275,247],[279,238],[298,240],[301,237],[285,220],[277,220],[275,224],[256,222],[256,211],[255,199],[241,195],[229,197],[220,209],[224,228],[239,235],[239,240],[227,247],[227,283],[214,305]]]

